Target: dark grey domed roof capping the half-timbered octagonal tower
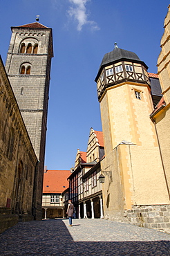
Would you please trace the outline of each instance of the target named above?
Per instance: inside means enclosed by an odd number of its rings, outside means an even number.
[[[110,53],[106,53],[104,55],[100,66],[105,66],[106,64],[109,64],[111,62],[117,62],[117,60],[122,60],[122,59],[141,62],[140,58],[135,53],[116,47],[114,48],[113,51],[111,51]]]

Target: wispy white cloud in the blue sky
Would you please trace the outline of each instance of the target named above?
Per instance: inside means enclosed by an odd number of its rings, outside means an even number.
[[[93,30],[99,30],[95,21],[88,20],[88,14],[86,12],[86,3],[91,0],[69,0],[72,3],[68,10],[68,15],[77,20],[77,30],[81,31],[82,26],[90,25]]]

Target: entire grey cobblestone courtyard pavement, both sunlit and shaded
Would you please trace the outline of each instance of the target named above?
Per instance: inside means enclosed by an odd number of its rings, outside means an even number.
[[[30,221],[0,235],[0,255],[170,255],[170,235],[104,219]]]

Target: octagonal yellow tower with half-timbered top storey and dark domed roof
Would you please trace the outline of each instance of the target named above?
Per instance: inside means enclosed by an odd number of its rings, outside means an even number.
[[[95,82],[104,134],[105,218],[132,221],[137,206],[169,205],[158,138],[149,117],[153,102],[147,65],[115,44],[104,55]],[[136,223],[144,223],[144,217],[135,217]]]

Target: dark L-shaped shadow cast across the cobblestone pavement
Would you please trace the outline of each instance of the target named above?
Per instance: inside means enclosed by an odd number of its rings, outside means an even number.
[[[170,255],[170,241],[73,241],[62,219],[52,219],[3,232],[0,255]]]

